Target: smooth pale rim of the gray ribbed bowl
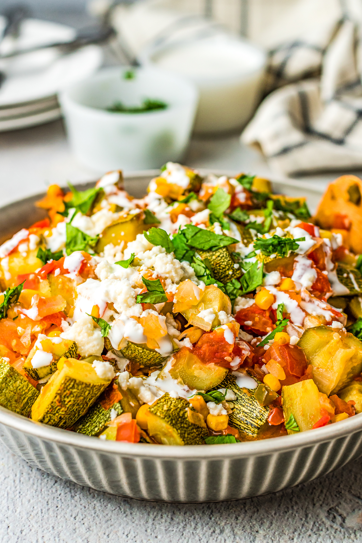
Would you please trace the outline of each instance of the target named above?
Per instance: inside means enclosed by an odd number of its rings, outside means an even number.
[[[200,173],[207,175],[214,173],[217,175],[234,175],[235,172],[228,172],[226,170],[219,171],[217,169],[205,169],[200,168]],[[157,175],[159,170],[146,170],[139,172],[132,172],[124,176],[125,180],[132,180],[133,178]],[[303,184],[300,181],[294,181],[285,178],[277,179],[274,176],[274,180],[278,184],[285,184],[294,188],[301,188],[303,190]],[[76,185],[77,186],[77,185]],[[79,186],[79,185],[78,185]],[[77,188],[78,188],[77,186]],[[80,185],[81,186],[81,185]],[[310,187],[304,187],[310,192]],[[316,194],[320,194],[318,190],[315,190]],[[36,197],[41,198],[44,194],[37,194]],[[33,200],[35,197],[24,198],[17,200],[11,204],[0,207],[0,213],[6,212],[10,209],[14,209],[18,203],[23,200]],[[300,432],[293,435],[283,435],[278,438],[263,439],[258,441],[243,441],[242,443],[236,443],[232,446],[228,444],[210,446],[210,445],[185,445],[180,446],[165,446],[154,444],[139,444],[139,443],[126,443],[122,441],[103,441],[87,435],[78,434],[75,432],[69,432],[56,428],[54,426],[48,426],[41,424],[40,422],[27,419],[24,416],[18,415],[0,406],[0,424],[3,424],[14,430],[31,435],[35,438],[39,438],[46,441],[52,441],[59,445],[72,446],[80,449],[93,450],[100,453],[119,454],[122,457],[131,458],[161,458],[163,460],[172,460],[176,458],[184,460],[202,460],[202,459],[220,459],[220,458],[243,458],[251,456],[265,456],[269,454],[280,453],[283,451],[290,451],[295,449],[301,449],[303,447],[312,447],[320,443],[328,443],[335,439],[347,437],[350,434],[362,431],[362,413],[354,415],[353,417],[340,421],[336,424],[330,424],[323,426],[322,428],[316,428],[315,430]]]

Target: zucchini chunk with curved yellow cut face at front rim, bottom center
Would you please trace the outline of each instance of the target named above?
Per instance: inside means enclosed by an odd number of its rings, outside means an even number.
[[[202,445],[208,431],[190,422],[188,409],[194,411],[183,398],[163,394],[148,410],[148,433],[162,445]]]

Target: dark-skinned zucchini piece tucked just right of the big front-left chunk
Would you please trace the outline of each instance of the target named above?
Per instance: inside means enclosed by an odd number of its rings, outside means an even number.
[[[120,403],[122,401],[122,394],[118,390],[116,381],[118,381],[117,378],[101,393],[89,411],[75,422],[75,425],[72,427],[73,432],[85,435],[98,435],[104,430],[106,422],[111,420],[112,409],[115,409],[117,415],[123,413]]]

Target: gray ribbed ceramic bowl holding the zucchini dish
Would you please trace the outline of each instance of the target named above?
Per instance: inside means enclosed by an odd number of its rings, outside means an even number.
[[[127,176],[126,189],[142,197],[156,173]],[[293,196],[307,194],[311,207],[320,196],[293,182],[278,182],[274,188]],[[33,207],[40,197],[0,210],[0,243],[45,217]],[[110,494],[168,502],[237,500],[311,481],[361,456],[362,414],[280,438],[168,447],[102,441],[0,407],[0,440],[36,468]]]

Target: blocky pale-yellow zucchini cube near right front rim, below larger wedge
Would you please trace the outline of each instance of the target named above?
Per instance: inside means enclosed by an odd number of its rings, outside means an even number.
[[[311,430],[313,425],[321,418],[321,403],[319,390],[313,379],[289,384],[282,388],[283,413],[285,422],[293,414],[299,430]],[[288,430],[288,434],[295,434]]]

